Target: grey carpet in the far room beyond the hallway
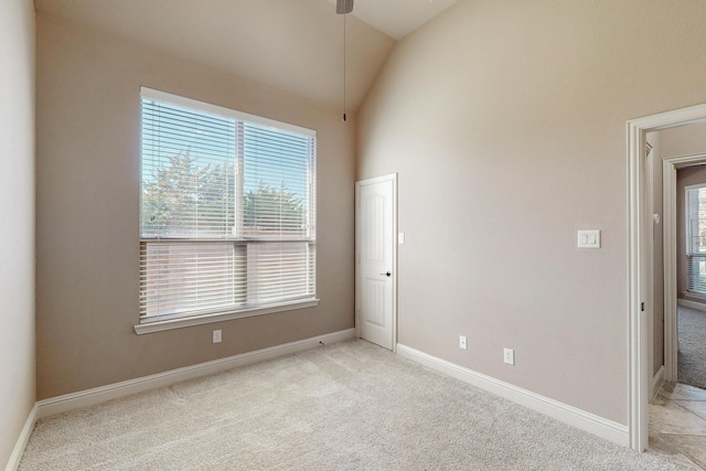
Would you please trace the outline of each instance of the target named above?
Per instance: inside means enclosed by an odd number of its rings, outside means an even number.
[[[678,308],[680,383],[706,389],[706,312]]]

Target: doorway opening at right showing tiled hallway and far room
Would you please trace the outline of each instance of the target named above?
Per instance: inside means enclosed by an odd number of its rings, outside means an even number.
[[[705,125],[692,124],[648,135],[656,143],[656,154],[648,163],[663,174],[651,186],[655,214],[650,373],[654,381],[649,448],[692,465],[706,463],[706,441],[693,436],[706,429],[702,411],[706,405],[706,388],[702,388],[706,387],[706,304],[700,302],[706,293],[706,153],[692,153],[706,150],[705,131]],[[660,193],[663,199],[657,202]],[[663,225],[657,224],[659,213],[664,215]],[[659,243],[661,236],[664,244]],[[694,440],[700,445],[693,447]]]

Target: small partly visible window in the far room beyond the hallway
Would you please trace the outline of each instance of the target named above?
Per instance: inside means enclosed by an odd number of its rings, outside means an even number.
[[[686,188],[688,291],[706,296],[706,184]]]

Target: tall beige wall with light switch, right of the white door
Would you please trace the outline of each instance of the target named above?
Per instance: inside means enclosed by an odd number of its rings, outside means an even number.
[[[698,0],[461,0],[397,44],[357,178],[399,172],[400,343],[628,424],[625,122],[706,103],[704,22]]]

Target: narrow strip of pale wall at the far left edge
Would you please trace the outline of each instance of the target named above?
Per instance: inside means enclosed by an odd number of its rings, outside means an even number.
[[[0,468],[34,407],[34,7],[0,2]]]

